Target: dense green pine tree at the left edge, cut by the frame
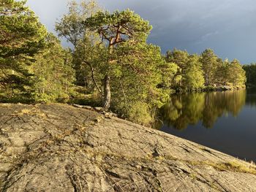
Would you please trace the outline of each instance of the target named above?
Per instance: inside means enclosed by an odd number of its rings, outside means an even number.
[[[0,2],[0,88],[10,92],[9,97],[16,92],[29,93],[32,82],[27,66],[44,46],[46,35],[45,27],[25,3]]]

